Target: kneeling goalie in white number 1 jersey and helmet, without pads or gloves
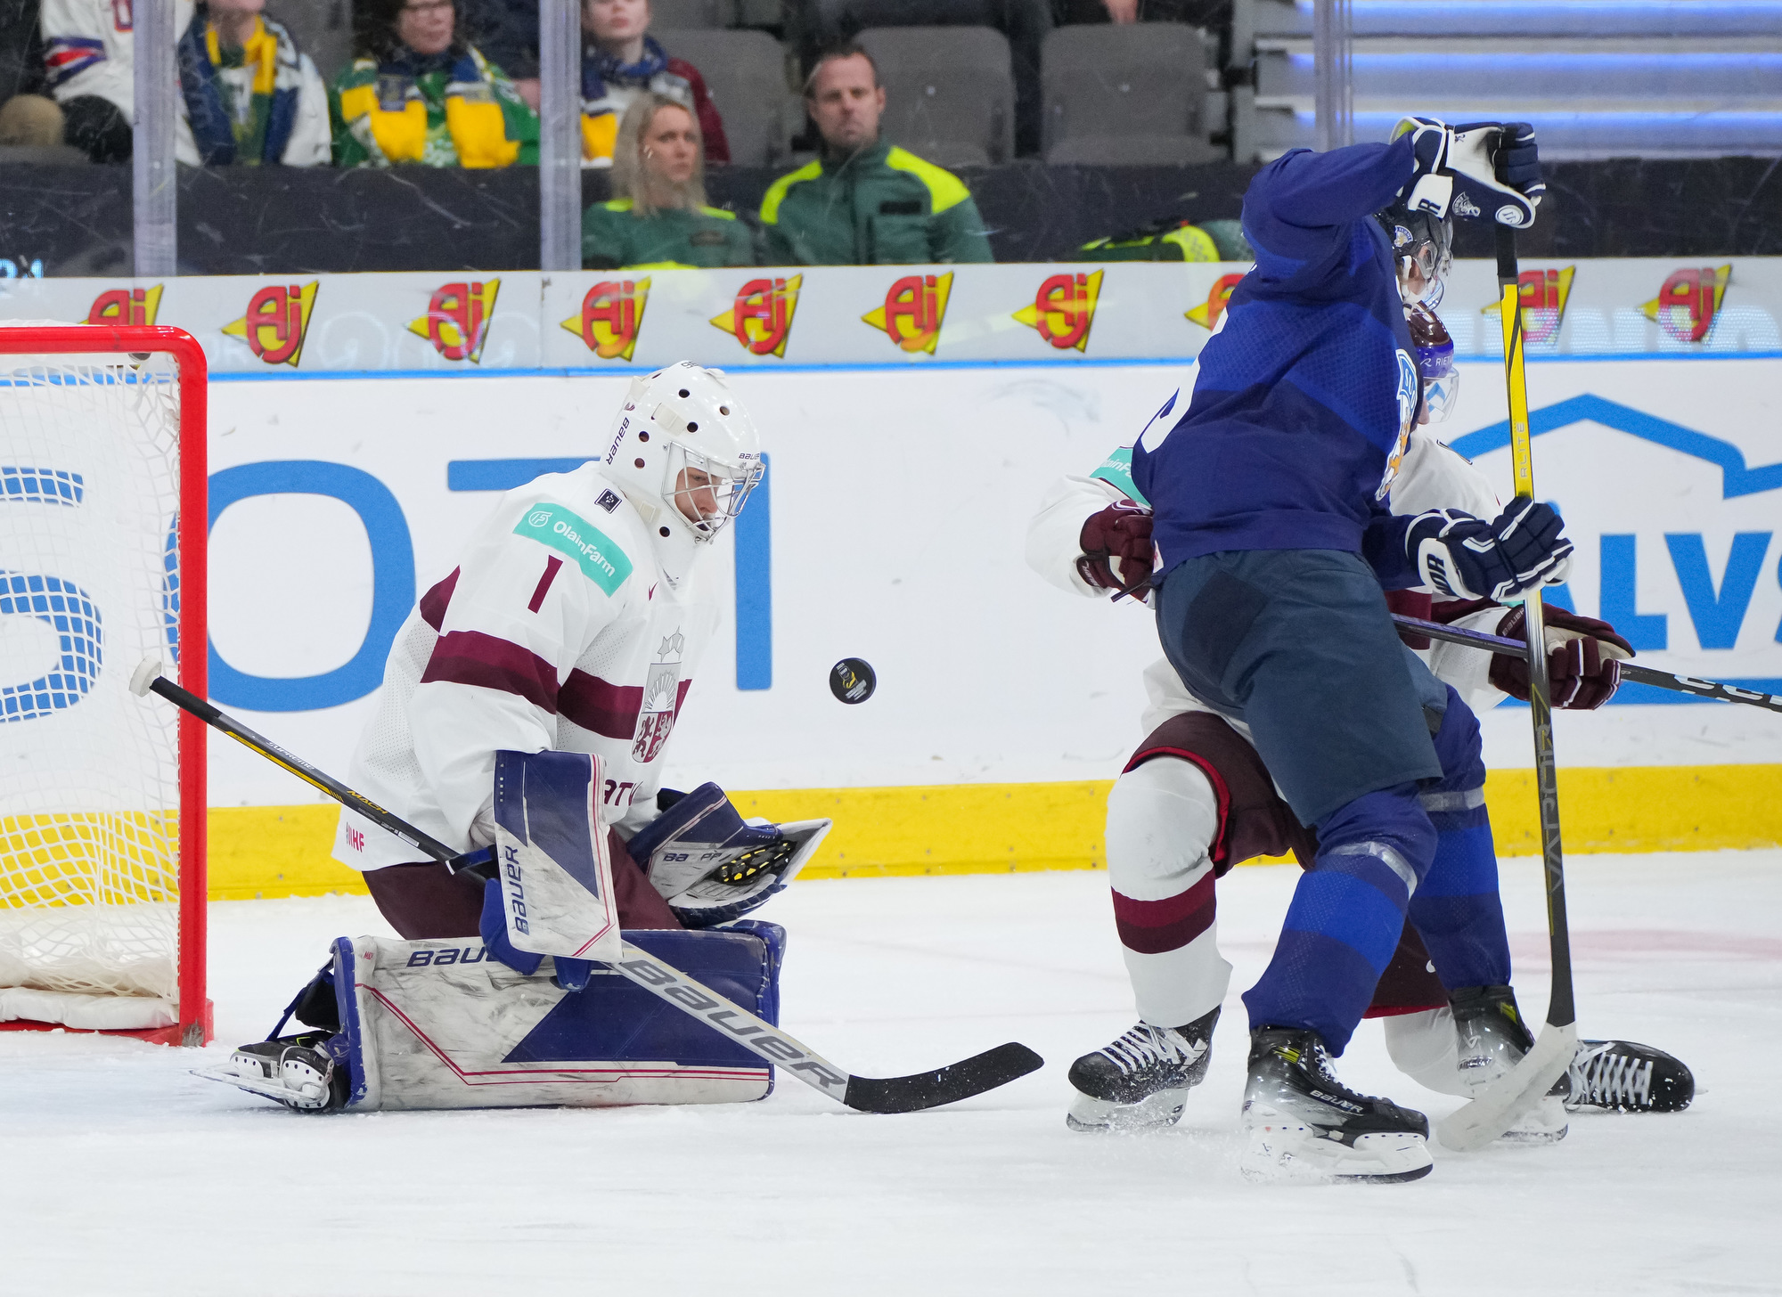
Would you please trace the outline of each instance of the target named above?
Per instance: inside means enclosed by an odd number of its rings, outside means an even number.
[[[469,852],[495,836],[497,750],[597,754],[620,923],[681,926],[624,841],[658,814],[663,752],[718,622],[700,559],[759,477],[759,435],[716,371],[636,379],[604,458],[508,492],[421,597],[349,784]],[[335,859],[365,871],[403,937],[476,935],[481,878],[419,862],[353,811]]]

